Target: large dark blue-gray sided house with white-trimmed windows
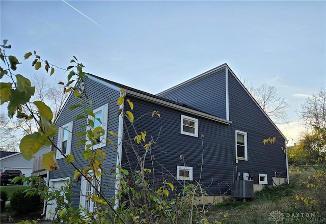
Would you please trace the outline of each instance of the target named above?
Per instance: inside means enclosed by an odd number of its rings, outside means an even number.
[[[124,169],[139,169],[134,152],[123,141],[120,144],[121,139],[128,136],[124,135],[125,127],[121,116],[117,116],[118,111],[121,108],[130,110],[127,102],[120,108],[116,106],[121,88],[125,90],[125,99],[134,105],[132,113],[137,120],[134,122],[137,134],[146,131],[146,142],[151,138],[155,141],[146,160],[146,166],[154,171],[149,178],[173,176],[176,186],[180,185],[178,181],[200,182],[213,200],[216,195],[231,194],[234,180],[249,177],[255,189],[259,189],[288,179],[287,157],[282,150],[286,149],[285,136],[227,64],[157,95],[87,75],[89,78],[80,81],[79,85],[83,90],[85,88],[88,100],[92,100],[96,118],[101,119],[104,130],[118,133],[118,138],[107,133],[104,136],[117,148],[103,139],[95,146],[106,153],[102,168],[107,172],[101,179],[101,190],[108,198],[114,197],[115,186],[119,184],[113,174],[117,165],[121,164]],[[77,147],[78,141],[85,137],[77,138],[76,133],[86,130],[87,121],[86,118],[74,120],[84,113],[82,107],[68,109],[79,101],[73,94],[68,98],[55,122],[58,134],[54,141],[66,154],[74,155],[76,164],[85,167],[89,162],[81,155],[85,146]],[[159,111],[160,118],[152,116],[152,111]],[[133,138],[136,133],[130,131],[130,135]],[[276,143],[264,145],[263,140],[268,137],[276,137]],[[73,177],[74,170],[58,152],[57,162],[60,169],[50,172],[49,185],[60,187]],[[83,179],[72,184],[74,206],[87,207],[87,187],[88,183]],[[84,196],[79,196],[80,192]],[[47,210],[53,206],[48,206]]]

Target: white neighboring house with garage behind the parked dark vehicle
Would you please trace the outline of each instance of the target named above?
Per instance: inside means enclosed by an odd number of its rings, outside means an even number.
[[[42,147],[34,156],[41,157],[50,150],[49,147]],[[1,152],[0,170],[20,170],[26,177],[32,176],[34,159],[26,160],[21,152]]]

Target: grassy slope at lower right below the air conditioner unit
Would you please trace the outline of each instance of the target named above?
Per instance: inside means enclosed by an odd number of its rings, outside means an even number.
[[[318,206],[307,207],[302,201],[296,200],[296,195],[307,194],[307,186],[302,182],[311,175],[309,171],[290,175],[290,184],[278,187],[265,187],[262,191],[255,192],[254,198],[249,202],[233,202],[231,200],[213,205],[208,209],[207,219],[209,223],[214,220],[223,224],[264,224],[275,223],[270,221],[270,213],[280,211],[284,214],[284,220],[280,223],[325,223],[313,222],[306,218],[291,219],[287,215],[293,213],[314,213],[326,221],[326,214]],[[279,223],[279,222],[277,222]]]

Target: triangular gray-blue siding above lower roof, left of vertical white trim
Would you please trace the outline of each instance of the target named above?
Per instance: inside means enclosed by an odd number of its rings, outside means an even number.
[[[159,96],[226,119],[225,68]]]

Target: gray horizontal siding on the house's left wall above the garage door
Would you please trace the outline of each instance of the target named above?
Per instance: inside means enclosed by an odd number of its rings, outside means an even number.
[[[107,119],[107,129],[112,130],[114,132],[118,132],[118,109],[116,107],[117,98],[119,97],[119,92],[113,89],[110,89],[98,82],[95,82],[91,79],[87,79],[85,82],[85,91],[87,92],[88,100],[92,100],[93,105],[92,109],[96,109],[104,104],[108,103],[108,119]],[[69,99],[60,113],[58,120],[56,121],[56,125],[59,127],[64,125],[70,121],[73,121],[77,115],[84,115],[84,108],[77,107],[73,110],[68,110],[68,107],[72,104],[80,103],[81,99],[76,99],[73,94],[69,96]],[[85,139],[85,136],[80,137],[79,139],[76,137],[76,134],[80,131],[85,131],[85,128],[80,127],[81,125],[86,125],[87,119],[80,119],[77,121],[73,121],[73,134],[72,134],[72,143],[71,143],[71,154],[74,156],[74,164],[79,169],[85,169],[88,166],[89,161],[84,159],[84,156],[81,154],[85,150],[85,145],[77,148],[78,141],[80,139]],[[107,137],[117,145],[117,138],[107,134]],[[54,143],[57,144],[58,135],[56,135],[53,140]],[[116,165],[117,161],[117,153],[116,149],[113,148],[113,145],[106,144],[105,147],[100,148],[106,154],[106,158],[104,159],[104,165],[102,166],[104,170],[106,170],[106,174],[101,178],[101,190],[105,192],[108,198],[113,197],[114,195],[114,186],[115,186],[115,178],[110,173],[110,170],[113,166]],[[63,178],[63,177],[72,177],[74,175],[74,168],[70,163],[64,161],[64,159],[57,160],[60,169],[50,172],[50,179]],[[74,202],[73,206],[79,206],[79,194],[80,194],[80,182],[73,182],[72,186],[72,201]]]

